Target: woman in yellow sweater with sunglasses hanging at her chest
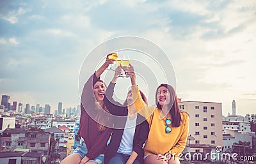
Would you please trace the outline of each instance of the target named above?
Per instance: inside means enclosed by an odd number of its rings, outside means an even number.
[[[156,89],[157,107],[148,107],[136,86],[133,66],[130,64],[123,69],[131,77],[135,108],[147,119],[150,127],[144,147],[145,164],[180,163],[179,156],[188,137],[189,116],[179,109],[175,90],[168,84],[161,84]]]

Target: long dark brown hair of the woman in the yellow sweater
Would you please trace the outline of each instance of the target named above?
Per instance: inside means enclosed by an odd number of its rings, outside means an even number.
[[[180,121],[181,121],[181,116],[180,116],[180,108],[179,108],[179,104],[178,104],[178,100],[177,100],[175,90],[173,89],[172,86],[170,86],[168,84],[161,84],[159,87],[157,87],[157,89],[156,89],[156,106],[157,106],[157,108],[159,108],[161,110],[162,110],[162,107],[158,103],[158,100],[157,100],[157,91],[159,90],[160,87],[166,87],[169,91],[171,101],[167,105],[167,107],[170,109],[169,113],[170,113],[170,116],[172,117],[172,126],[173,127],[179,127],[180,126]]]

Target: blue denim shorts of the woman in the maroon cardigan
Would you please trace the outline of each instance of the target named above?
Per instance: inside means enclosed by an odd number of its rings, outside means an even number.
[[[86,154],[88,153],[88,149],[86,147],[85,142],[81,141],[77,148],[74,151],[72,151],[72,153],[77,153],[82,158],[84,158],[84,156],[86,156]],[[104,154],[100,154],[95,159],[89,161],[94,161],[97,164],[102,164],[104,162]]]

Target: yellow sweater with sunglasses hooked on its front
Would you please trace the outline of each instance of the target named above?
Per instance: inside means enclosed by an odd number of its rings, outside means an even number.
[[[181,123],[179,127],[172,127],[170,133],[165,133],[165,117],[159,108],[148,107],[141,99],[138,86],[132,87],[132,98],[136,110],[147,118],[150,126],[148,139],[144,147],[145,156],[149,154],[171,153],[173,156],[182,153],[188,137],[189,116],[180,110]],[[162,119],[161,119],[162,118]],[[171,118],[172,119],[172,118]]]

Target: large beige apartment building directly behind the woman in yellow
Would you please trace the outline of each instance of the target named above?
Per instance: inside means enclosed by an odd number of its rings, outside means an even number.
[[[191,152],[203,152],[202,147],[222,147],[221,103],[181,101],[179,107],[189,114],[189,138],[193,138],[188,140],[193,145],[190,147]]]

